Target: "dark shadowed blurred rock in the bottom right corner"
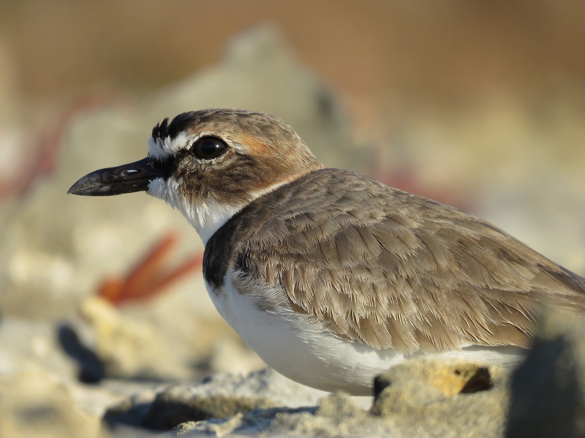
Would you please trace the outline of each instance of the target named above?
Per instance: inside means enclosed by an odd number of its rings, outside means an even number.
[[[584,327],[547,310],[514,371],[506,436],[585,436]]]

